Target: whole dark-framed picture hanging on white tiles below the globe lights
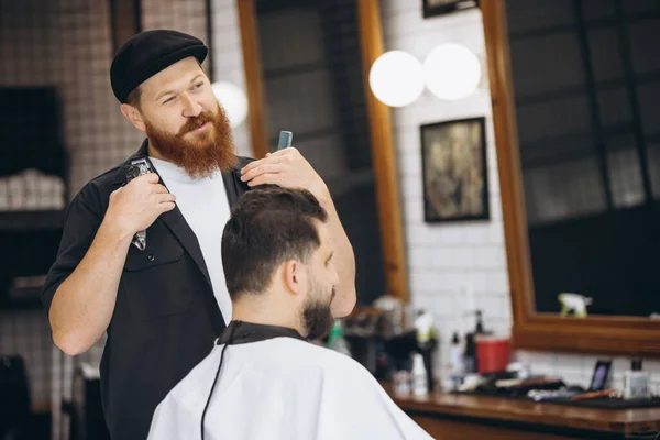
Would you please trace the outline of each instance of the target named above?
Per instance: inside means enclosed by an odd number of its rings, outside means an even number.
[[[425,220],[488,219],[485,118],[421,125],[420,134]]]

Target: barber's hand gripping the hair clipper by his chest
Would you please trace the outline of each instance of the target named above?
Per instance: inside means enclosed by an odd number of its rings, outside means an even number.
[[[148,228],[163,212],[175,207],[176,197],[158,184],[155,173],[135,177],[110,195],[103,222],[109,222],[128,237]]]

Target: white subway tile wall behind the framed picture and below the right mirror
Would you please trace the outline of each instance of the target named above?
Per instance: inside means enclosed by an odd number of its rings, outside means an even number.
[[[426,20],[418,0],[383,0],[381,9],[386,51],[407,51],[424,61],[436,45],[459,43],[482,59],[485,74],[485,43],[477,9]],[[419,125],[480,116],[486,117],[491,220],[425,223]],[[502,336],[510,333],[513,322],[487,80],[482,81],[475,94],[460,101],[442,101],[425,90],[413,105],[393,109],[393,124],[402,199],[406,209],[405,240],[411,300],[414,307],[428,309],[436,316],[441,338],[437,374],[441,375],[453,331],[464,332],[474,327],[473,318],[464,324],[464,319],[457,316],[459,310],[468,305],[483,309],[486,328]],[[470,292],[473,299],[470,299]],[[583,386],[588,385],[598,359],[531,351],[519,351],[515,356],[530,364],[535,373],[561,375]],[[629,361],[615,359],[614,385],[622,386],[623,373],[629,369]],[[645,370],[652,372],[653,387],[660,388],[660,362],[645,361],[644,365]]]

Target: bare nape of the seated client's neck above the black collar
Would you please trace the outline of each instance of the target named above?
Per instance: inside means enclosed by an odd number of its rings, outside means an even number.
[[[233,301],[232,306],[232,321],[286,327],[305,336],[296,314],[289,307],[283,307],[282,304],[266,298],[242,298]]]

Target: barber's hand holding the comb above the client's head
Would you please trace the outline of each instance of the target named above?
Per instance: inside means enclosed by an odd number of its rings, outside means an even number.
[[[326,183],[300,152],[290,146],[251,162],[241,169],[241,180],[250,186],[278,185],[309,190],[319,201],[328,198]]]

